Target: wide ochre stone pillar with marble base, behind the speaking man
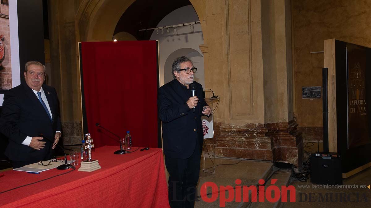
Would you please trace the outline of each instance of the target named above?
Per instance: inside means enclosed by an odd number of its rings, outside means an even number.
[[[220,96],[216,154],[301,164],[292,107],[290,0],[206,4],[205,83]]]

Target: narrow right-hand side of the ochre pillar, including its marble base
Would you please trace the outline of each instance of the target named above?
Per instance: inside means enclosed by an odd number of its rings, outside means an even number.
[[[301,165],[302,134],[293,119],[290,0],[262,1],[265,123],[273,159]]]

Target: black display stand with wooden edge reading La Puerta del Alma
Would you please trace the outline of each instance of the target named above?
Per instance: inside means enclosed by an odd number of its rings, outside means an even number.
[[[347,178],[371,167],[371,48],[331,39],[324,49],[324,151],[342,155]]]

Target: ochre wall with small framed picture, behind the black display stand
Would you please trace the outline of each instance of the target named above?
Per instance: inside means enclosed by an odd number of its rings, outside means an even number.
[[[371,47],[371,1],[292,0],[295,114],[306,140],[322,137],[322,99],[302,99],[301,87],[322,86],[324,40]]]

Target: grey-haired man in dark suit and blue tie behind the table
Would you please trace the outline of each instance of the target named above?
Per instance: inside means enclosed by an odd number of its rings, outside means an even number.
[[[13,168],[52,158],[55,145],[40,134],[54,138],[55,143],[62,135],[58,96],[55,88],[43,84],[45,76],[43,64],[29,61],[24,72],[26,83],[4,94],[0,132],[9,138],[5,155]]]

